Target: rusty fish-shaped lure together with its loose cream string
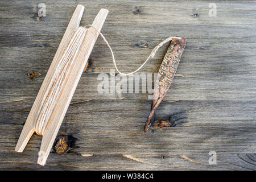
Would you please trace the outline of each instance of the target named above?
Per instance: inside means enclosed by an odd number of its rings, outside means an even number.
[[[90,26],[90,25],[87,25],[87,26]],[[100,31],[98,31],[96,28],[94,29],[102,36],[105,43],[109,47],[110,52],[112,53],[112,59],[113,59],[115,70],[121,76],[130,76],[130,75],[133,75],[135,72],[138,72],[147,63],[147,61],[150,58],[155,56],[156,51],[158,51],[158,49],[162,47],[164,43],[167,43],[168,41],[171,40],[170,46],[168,47],[168,50],[166,52],[166,55],[164,56],[162,65],[160,66],[160,69],[158,72],[158,80],[159,80],[158,84],[156,84],[155,89],[153,91],[153,99],[151,102],[150,114],[148,115],[146,125],[144,126],[144,132],[147,132],[148,128],[151,126],[150,120],[153,114],[155,113],[156,107],[158,107],[160,102],[162,102],[164,96],[166,95],[168,89],[171,86],[172,80],[174,79],[177,67],[180,62],[181,55],[184,51],[187,39],[185,39],[183,36],[172,36],[170,38],[167,38],[163,42],[159,43],[158,46],[156,46],[152,50],[152,52],[147,57],[146,61],[144,61],[144,63],[141,65],[141,67],[139,67],[138,69],[130,73],[122,73],[118,70],[117,65],[115,64],[114,53],[108,43],[108,40],[105,39],[104,35],[102,35]]]

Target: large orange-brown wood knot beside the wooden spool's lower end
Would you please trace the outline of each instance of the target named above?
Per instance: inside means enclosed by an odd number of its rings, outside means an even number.
[[[78,148],[76,145],[76,138],[72,135],[60,135],[56,138],[53,144],[53,150],[57,154],[67,154],[74,148]]]

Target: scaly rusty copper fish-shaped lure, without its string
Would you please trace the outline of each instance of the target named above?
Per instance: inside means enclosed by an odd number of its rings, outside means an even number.
[[[179,39],[180,38],[180,39]],[[172,80],[180,62],[181,55],[184,51],[186,39],[182,36],[172,39],[170,46],[164,56],[162,65],[158,72],[158,83],[156,83],[153,91],[153,99],[151,102],[150,114],[147,117],[144,132],[147,132],[151,126],[151,118],[155,113],[155,109],[162,102],[164,96],[171,86]]]

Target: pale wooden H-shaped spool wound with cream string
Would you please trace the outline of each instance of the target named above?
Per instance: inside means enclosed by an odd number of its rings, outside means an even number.
[[[35,131],[37,134],[43,135],[38,157],[38,164],[42,166],[46,164],[53,142],[55,141],[82,72],[98,38],[98,32],[93,28],[86,29],[79,27],[83,13],[84,6],[78,5],[28,114],[26,123],[15,147],[15,151],[22,152]],[[107,15],[108,10],[101,9],[94,19],[92,26],[100,31]],[[78,32],[81,34],[80,38],[83,38],[77,40],[79,45],[72,42]],[[76,53],[68,54],[71,48]],[[65,56],[66,64],[62,62]]]

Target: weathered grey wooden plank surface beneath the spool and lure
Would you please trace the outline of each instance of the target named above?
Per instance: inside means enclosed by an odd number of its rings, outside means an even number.
[[[256,1],[41,1],[0,2],[0,169],[255,170]],[[147,93],[100,94],[97,77],[114,68],[98,38],[59,135],[77,140],[71,152],[36,164],[42,137],[14,151],[24,122],[77,5],[81,25],[109,10],[102,33],[122,72],[134,71],[160,41],[187,38],[174,82],[156,110],[175,127],[143,133]],[[168,45],[141,72],[156,73]],[[39,72],[29,78],[28,72]],[[210,165],[209,151],[217,164]]]

